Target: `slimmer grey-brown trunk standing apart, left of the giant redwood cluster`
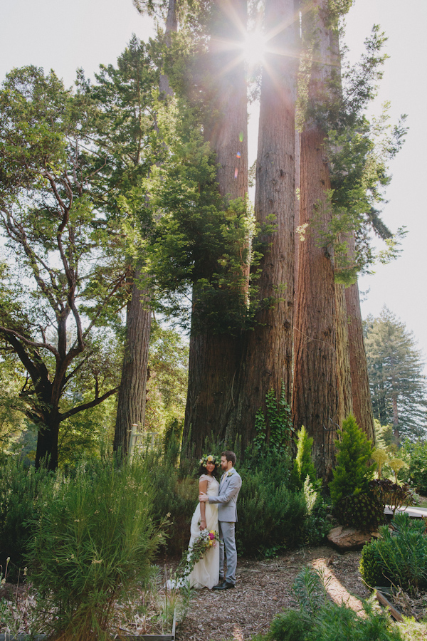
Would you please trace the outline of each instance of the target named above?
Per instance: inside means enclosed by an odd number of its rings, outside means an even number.
[[[114,451],[127,454],[132,424],[144,425],[151,310],[148,292],[139,288],[135,269],[132,296],[127,304],[125,354],[117,400]]]

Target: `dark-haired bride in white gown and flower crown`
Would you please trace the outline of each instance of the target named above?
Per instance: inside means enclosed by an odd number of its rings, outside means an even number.
[[[200,459],[199,494],[218,496],[219,483],[216,480],[218,462],[209,454]],[[191,538],[189,549],[203,530],[218,532],[218,506],[216,504],[199,503],[191,518]],[[191,570],[189,581],[192,588],[209,588],[211,590],[219,580],[219,545],[209,549]]]

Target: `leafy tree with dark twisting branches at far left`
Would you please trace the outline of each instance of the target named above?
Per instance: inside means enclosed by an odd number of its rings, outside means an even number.
[[[115,371],[97,354],[108,319],[123,304],[102,210],[90,194],[90,107],[51,72],[11,71],[0,92],[0,212],[8,266],[0,334],[28,377],[21,389],[38,426],[36,464],[58,464],[59,425],[117,392]],[[120,254],[120,251],[118,252]],[[70,403],[86,371],[93,396]]]

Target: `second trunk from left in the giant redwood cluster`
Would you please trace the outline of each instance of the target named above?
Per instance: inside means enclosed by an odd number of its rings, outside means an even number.
[[[237,411],[227,431],[230,441],[241,436],[243,447],[254,436],[255,414],[260,407],[265,410],[268,390],[273,389],[279,400],[283,383],[289,403],[292,392],[297,71],[293,0],[265,2],[265,33],[272,32],[260,98],[255,216],[260,224],[275,217],[277,229],[264,239],[257,282],[259,300],[275,300],[257,314],[255,328],[244,341]]]

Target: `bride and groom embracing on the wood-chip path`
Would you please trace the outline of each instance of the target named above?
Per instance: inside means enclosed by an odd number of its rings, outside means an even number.
[[[191,571],[189,580],[194,588],[227,590],[236,584],[236,503],[242,479],[234,469],[235,464],[236,454],[229,451],[222,452],[221,462],[212,454],[200,459],[199,505],[191,518],[189,548],[206,529],[218,531],[220,541],[219,546],[209,549]],[[218,467],[223,472],[219,483],[216,479]],[[227,558],[225,577],[224,551]]]

